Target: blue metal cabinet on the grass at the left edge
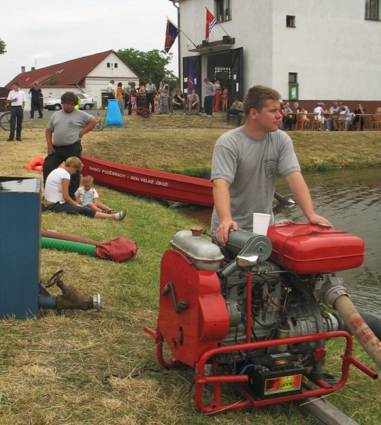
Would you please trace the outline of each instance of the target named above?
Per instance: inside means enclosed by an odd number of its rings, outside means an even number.
[[[0,177],[0,319],[38,314],[41,181]]]

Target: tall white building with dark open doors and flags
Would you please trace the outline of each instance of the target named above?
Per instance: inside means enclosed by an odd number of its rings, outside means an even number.
[[[380,0],[170,0],[180,7],[183,89],[219,77],[231,97],[255,84],[302,101],[381,98]],[[206,8],[218,23],[205,39]],[[194,42],[197,47],[192,44]]]

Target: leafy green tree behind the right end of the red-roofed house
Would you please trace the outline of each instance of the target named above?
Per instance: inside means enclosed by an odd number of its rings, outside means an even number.
[[[148,52],[123,49],[118,50],[118,55],[136,71],[143,81],[148,81],[149,78],[152,78],[158,87],[160,81],[166,79],[170,86],[178,85],[178,79],[175,74],[166,68],[172,59],[172,53],[158,49],[149,50]]]

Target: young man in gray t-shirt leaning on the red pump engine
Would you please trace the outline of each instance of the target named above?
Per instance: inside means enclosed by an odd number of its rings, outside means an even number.
[[[221,246],[226,245],[229,230],[253,229],[253,212],[272,215],[277,173],[285,177],[311,223],[332,226],[314,211],[292,140],[278,129],[282,123],[279,106],[277,91],[253,86],[243,100],[245,125],[225,133],[216,142],[211,164],[211,232]]]

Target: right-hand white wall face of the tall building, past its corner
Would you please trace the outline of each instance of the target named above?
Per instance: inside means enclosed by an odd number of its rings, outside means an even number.
[[[297,72],[299,98],[381,98],[381,22],[365,21],[364,0],[273,0],[273,81],[288,96]],[[286,28],[286,15],[296,28]]]

